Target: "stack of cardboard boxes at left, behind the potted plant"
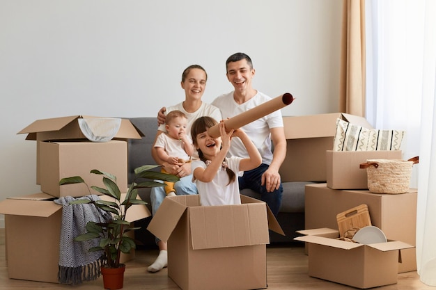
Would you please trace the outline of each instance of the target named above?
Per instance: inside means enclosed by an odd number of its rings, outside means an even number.
[[[118,187],[127,191],[126,140],[141,138],[143,134],[129,120],[122,120],[113,140],[94,143],[81,133],[79,118],[83,117],[36,120],[18,133],[27,134],[26,140],[36,140],[36,183],[42,192],[13,196],[0,202],[0,214],[5,215],[10,278],[58,282],[62,208],[53,200],[89,194],[84,184],[59,186],[60,179],[79,175],[89,186],[103,187],[101,176],[90,174],[91,170],[98,169],[116,175]],[[146,206],[132,210],[136,212],[131,222],[150,216]],[[125,255],[124,261],[132,255]]]

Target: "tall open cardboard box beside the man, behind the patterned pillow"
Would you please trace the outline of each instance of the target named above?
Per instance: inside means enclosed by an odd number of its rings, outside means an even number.
[[[287,139],[286,158],[280,168],[283,182],[325,182],[325,151],[333,149],[336,119],[368,129],[363,117],[345,113],[329,113],[283,117]]]

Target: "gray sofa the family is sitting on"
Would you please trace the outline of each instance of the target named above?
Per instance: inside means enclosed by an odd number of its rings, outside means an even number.
[[[143,117],[143,118],[129,118],[130,122],[134,124],[145,136],[142,139],[132,139],[128,141],[128,179],[129,183],[132,182],[134,176],[134,168],[139,166],[155,164],[151,157],[150,150],[153,146],[157,131],[156,118]],[[270,234],[271,243],[290,243],[293,238],[297,236],[295,231],[304,229],[304,186],[309,182],[284,182],[283,183],[283,200],[280,207],[277,220],[283,228],[286,236],[281,236],[275,232]],[[241,192],[244,195],[249,195],[253,198],[260,198],[258,193],[249,189],[244,189]],[[148,202],[150,207],[150,188],[144,188],[139,191],[139,195],[143,200]],[[139,244],[146,246],[155,245],[155,237],[146,229],[150,223],[151,217],[139,220],[136,225],[141,229],[135,232],[135,238]]]

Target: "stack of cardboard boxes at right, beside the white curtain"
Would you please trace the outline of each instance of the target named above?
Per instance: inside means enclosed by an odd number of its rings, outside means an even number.
[[[369,192],[366,170],[359,168],[360,163],[402,159],[402,152],[332,151],[336,118],[372,129],[364,118],[345,113],[283,118],[288,152],[281,175],[294,181],[319,182],[306,185],[306,231],[296,239],[307,242],[309,275],[313,277],[358,288],[394,284],[398,273],[416,270],[417,191],[411,188],[398,195]],[[371,247],[336,240],[336,215],[360,204],[368,206],[372,225],[382,229],[389,243]]]

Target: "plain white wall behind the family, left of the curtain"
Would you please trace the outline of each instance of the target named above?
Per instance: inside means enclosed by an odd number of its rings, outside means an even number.
[[[0,0],[0,200],[40,191],[36,144],[17,132],[63,115],[155,116],[208,71],[212,102],[243,51],[254,86],[291,92],[283,115],[338,110],[341,0]],[[0,215],[0,227],[4,226]]]

